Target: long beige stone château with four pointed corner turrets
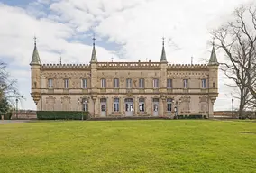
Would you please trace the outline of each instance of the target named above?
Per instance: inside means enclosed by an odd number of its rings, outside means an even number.
[[[215,45],[208,64],[169,64],[164,42],[159,62],[98,62],[95,42],[90,63],[41,64],[32,54],[32,98],[39,111],[88,111],[92,117],[213,117],[218,96]]]

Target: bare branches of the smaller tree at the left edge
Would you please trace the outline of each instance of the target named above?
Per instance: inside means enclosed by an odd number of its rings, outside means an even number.
[[[10,74],[6,71],[7,65],[5,62],[0,62],[0,103],[8,102],[10,105],[14,104],[15,99],[21,99],[16,87],[16,80],[11,79]]]

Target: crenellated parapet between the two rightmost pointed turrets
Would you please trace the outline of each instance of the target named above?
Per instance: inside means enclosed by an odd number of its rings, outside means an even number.
[[[207,64],[169,64],[167,70],[208,70]]]

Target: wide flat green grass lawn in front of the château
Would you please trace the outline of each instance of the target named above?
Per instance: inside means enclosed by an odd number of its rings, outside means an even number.
[[[2,124],[0,172],[256,172],[256,123]]]

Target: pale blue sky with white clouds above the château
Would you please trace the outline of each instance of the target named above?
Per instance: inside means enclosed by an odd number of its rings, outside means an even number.
[[[162,37],[171,64],[206,63],[210,31],[232,18],[251,0],[0,0],[0,59],[8,63],[24,100],[20,109],[36,109],[29,63],[33,37],[41,62],[89,63],[96,35],[98,61],[160,61]],[[220,62],[221,52],[216,52]],[[219,72],[215,111],[231,110],[233,88]],[[238,101],[234,100],[237,106]]]

